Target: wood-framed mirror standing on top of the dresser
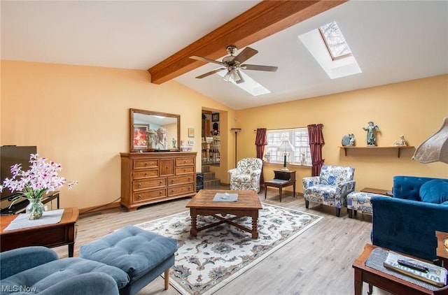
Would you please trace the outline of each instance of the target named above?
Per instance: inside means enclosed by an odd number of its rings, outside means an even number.
[[[179,151],[181,116],[130,108],[130,151]]]

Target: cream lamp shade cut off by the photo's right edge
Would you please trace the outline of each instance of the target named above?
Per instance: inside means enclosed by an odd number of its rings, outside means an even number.
[[[417,147],[412,159],[420,163],[442,161],[448,164],[448,117],[444,118],[439,131]]]

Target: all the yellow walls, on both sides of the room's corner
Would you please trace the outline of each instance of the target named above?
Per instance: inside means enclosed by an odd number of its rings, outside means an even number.
[[[62,176],[78,180],[74,189],[62,189],[62,207],[101,206],[120,198],[119,153],[130,148],[130,108],[181,115],[181,139],[195,141],[197,171],[202,110],[220,113],[221,166],[212,169],[224,183],[235,166],[231,128],[241,128],[241,159],[255,156],[254,129],[313,123],[325,125],[325,164],[354,166],[357,189],[390,189],[399,174],[448,178],[447,164],[411,161],[414,149],[398,159],[395,150],[353,150],[345,157],[337,147],[349,133],[365,145],[362,127],[370,120],[381,129],[378,145],[390,145],[400,135],[419,145],[448,116],[448,75],[235,111],[174,81],[151,84],[146,71],[1,61],[0,99],[0,145],[37,145],[41,156],[62,164]],[[195,138],[188,138],[189,127]],[[265,164],[265,179],[280,166]],[[310,169],[290,168],[302,192],[300,180]]]

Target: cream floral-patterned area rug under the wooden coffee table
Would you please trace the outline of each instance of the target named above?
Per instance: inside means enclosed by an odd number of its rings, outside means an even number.
[[[251,239],[251,233],[230,224],[220,224],[199,231],[196,237],[190,236],[189,211],[136,226],[178,240],[176,262],[169,273],[170,284],[181,294],[207,295],[213,294],[323,218],[266,203],[262,207],[258,217],[257,240]],[[216,221],[211,216],[197,217],[198,227]],[[234,222],[249,228],[252,226],[251,217],[241,217]]]

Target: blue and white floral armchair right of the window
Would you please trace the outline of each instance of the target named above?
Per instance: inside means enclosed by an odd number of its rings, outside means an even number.
[[[353,167],[324,165],[321,175],[303,178],[305,207],[308,208],[309,201],[332,206],[339,217],[341,207],[347,206],[347,194],[355,190],[354,173]]]

